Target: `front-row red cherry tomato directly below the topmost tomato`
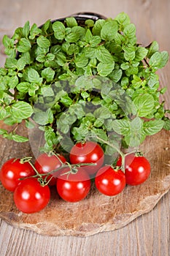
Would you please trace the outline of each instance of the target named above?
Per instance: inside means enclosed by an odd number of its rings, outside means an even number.
[[[68,174],[69,171],[69,167],[63,168],[58,176],[58,195],[68,202],[78,202],[90,191],[90,177],[82,167],[77,167],[77,173]]]

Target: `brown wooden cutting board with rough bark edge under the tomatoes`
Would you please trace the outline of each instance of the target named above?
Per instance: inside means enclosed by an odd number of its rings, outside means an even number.
[[[95,186],[85,200],[66,203],[55,189],[48,206],[36,214],[23,214],[15,207],[12,192],[0,184],[0,217],[15,227],[47,236],[90,236],[116,230],[151,211],[170,189],[170,132],[162,130],[148,137],[141,146],[152,167],[142,185],[127,186],[119,195],[101,195]],[[0,139],[1,165],[11,157],[30,156],[28,143]]]

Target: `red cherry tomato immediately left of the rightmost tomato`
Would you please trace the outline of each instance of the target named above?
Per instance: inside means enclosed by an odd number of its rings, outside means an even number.
[[[95,184],[102,194],[114,196],[125,188],[125,174],[122,170],[114,170],[112,166],[106,165],[98,170]]]

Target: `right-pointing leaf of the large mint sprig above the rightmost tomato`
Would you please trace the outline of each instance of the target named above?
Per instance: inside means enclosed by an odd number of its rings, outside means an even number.
[[[154,135],[155,133],[161,131],[164,125],[163,120],[151,120],[144,122],[144,133],[145,135]]]

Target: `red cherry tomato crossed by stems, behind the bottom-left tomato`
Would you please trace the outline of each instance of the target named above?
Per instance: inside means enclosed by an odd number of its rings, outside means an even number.
[[[65,157],[62,155],[47,155],[45,153],[40,154],[39,157],[36,158],[36,162],[34,166],[36,167],[36,170],[38,170],[39,173],[49,173],[52,170],[58,169],[61,167],[62,163],[66,162]],[[56,184],[56,176],[58,176],[58,172],[53,173],[53,175],[49,175],[47,177],[47,181],[50,180],[49,185],[53,186]],[[45,178],[45,176],[44,176]],[[51,178],[51,179],[50,179]]]

